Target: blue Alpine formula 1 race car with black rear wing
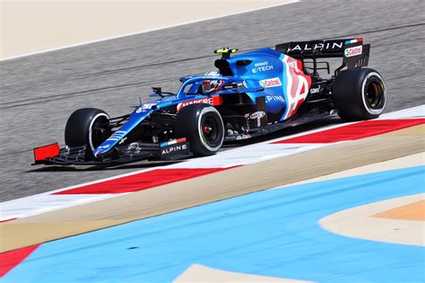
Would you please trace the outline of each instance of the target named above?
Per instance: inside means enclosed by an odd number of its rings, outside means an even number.
[[[362,39],[282,43],[231,55],[218,49],[218,72],[185,76],[177,93],[152,88],[156,99],[121,117],[83,108],[65,127],[64,148],[34,149],[35,164],[122,164],[213,155],[223,142],[265,135],[338,113],[344,120],[377,118],[386,104],[379,73],[366,68]],[[342,57],[330,78],[324,57]]]

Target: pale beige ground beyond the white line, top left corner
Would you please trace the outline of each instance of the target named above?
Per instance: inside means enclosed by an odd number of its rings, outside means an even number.
[[[2,0],[0,57],[16,57],[288,2],[291,1]],[[214,37],[214,34],[206,36]]]

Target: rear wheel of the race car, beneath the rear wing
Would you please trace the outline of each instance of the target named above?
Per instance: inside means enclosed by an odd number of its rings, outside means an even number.
[[[335,79],[334,102],[341,118],[377,118],[386,106],[386,84],[377,71],[354,68],[340,72]]]

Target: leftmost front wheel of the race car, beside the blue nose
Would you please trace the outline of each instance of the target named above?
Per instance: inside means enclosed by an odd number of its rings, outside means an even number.
[[[86,158],[93,159],[93,151],[110,134],[109,115],[96,108],[82,108],[74,111],[66,122],[66,146],[87,146]]]

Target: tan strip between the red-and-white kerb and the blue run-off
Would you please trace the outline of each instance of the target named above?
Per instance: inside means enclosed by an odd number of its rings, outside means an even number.
[[[402,129],[389,135],[327,146],[114,199],[5,222],[0,224],[0,252],[418,154],[423,152],[422,129],[423,126]],[[286,169],[282,171],[284,167]]]

